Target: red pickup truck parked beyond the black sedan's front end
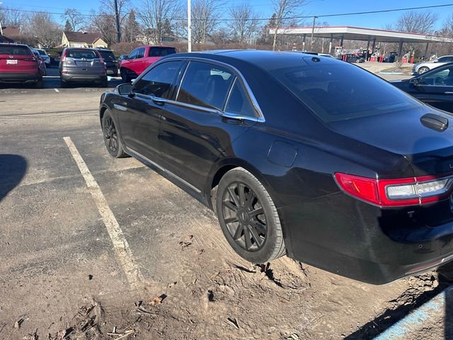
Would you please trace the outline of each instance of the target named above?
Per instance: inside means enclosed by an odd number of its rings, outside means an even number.
[[[120,64],[122,81],[127,82],[137,78],[149,65],[154,64],[161,57],[175,53],[176,48],[171,46],[145,45],[137,47]]]

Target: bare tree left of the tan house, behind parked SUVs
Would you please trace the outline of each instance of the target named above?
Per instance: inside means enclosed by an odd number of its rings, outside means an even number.
[[[37,12],[28,16],[23,31],[36,38],[43,47],[58,45],[62,39],[62,27],[47,12]]]

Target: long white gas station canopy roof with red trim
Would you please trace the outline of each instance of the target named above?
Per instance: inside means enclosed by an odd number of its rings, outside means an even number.
[[[275,29],[270,29],[275,33]],[[397,32],[394,30],[378,30],[374,28],[360,28],[351,26],[328,26],[328,27],[294,27],[279,28],[277,34],[302,35],[314,38],[328,38],[340,40],[365,40],[374,42],[453,42],[452,38],[439,35],[420,33]]]

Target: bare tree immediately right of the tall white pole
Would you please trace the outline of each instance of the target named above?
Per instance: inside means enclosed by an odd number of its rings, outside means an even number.
[[[206,38],[219,24],[218,0],[196,0],[192,4],[192,38],[206,43]]]

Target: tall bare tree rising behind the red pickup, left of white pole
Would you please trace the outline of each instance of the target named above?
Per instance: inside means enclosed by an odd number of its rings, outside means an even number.
[[[160,44],[168,34],[168,23],[180,16],[180,11],[178,0],[142,0],[137,16],[149,38]]]

